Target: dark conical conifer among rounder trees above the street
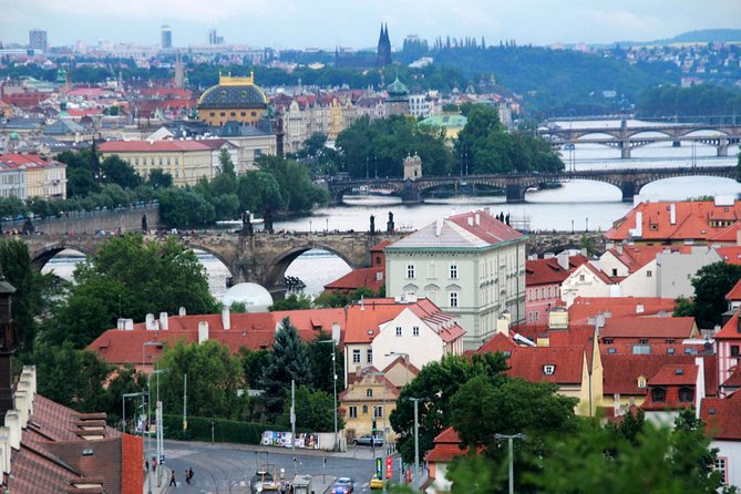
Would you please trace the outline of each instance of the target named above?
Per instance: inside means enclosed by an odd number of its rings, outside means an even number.
[[[311,361],[298,330],[290,323],[289,318],[285,318],[276,332],[270,362],[263,372],[261,384],[268,420],[282,413],[284,400],[286,392],[290,390],[291,380],[296,385],[310,384]]]

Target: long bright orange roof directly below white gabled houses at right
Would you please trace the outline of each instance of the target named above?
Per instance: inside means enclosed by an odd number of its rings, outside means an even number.
[[[568,308],[568,320],[586,325],[589,318],[605,312],[614,318],[671,313],[675,305],[675,299],[658,297],[577,297]]]

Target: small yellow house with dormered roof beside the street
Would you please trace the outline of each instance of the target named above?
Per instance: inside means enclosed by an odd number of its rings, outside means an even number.
[[[381,372],[360,374],[351,382],[339,397],[348,443],[352,443],[354,438],[370,434],[373,418],[379,432],[384,429],[391,431],[389,415],[397,408],[399,390]]]

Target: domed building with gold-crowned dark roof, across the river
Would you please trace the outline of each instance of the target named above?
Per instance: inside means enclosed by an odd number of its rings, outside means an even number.
[[[255,75],[219,74],[218,85],[207,89],[198,99],[198,119],[210,125],[227,122],[255,125],[268,109],[263,90],[255,85]]]

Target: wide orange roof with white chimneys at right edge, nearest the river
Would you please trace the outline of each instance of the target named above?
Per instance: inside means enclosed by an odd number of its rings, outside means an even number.
[[[675,220],[671,220],[671,208]],[[605,233],[610,240],[634,238],[630,230],[636,228],[637,213],[641,213],[641,235],[636,240],[680,241],[709,240],[724,231],[728,226],[710,226],[711,220],[738,222],[741,217],[741,202],[730,206],[716,206],[712,200],[683,200],[640,203],[626,216],[613,224]],[[635,230],[634,230],[635,234]],[[735,237],[731,241],[735,241]]]

